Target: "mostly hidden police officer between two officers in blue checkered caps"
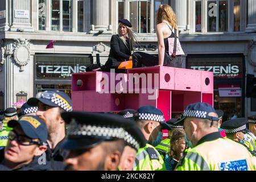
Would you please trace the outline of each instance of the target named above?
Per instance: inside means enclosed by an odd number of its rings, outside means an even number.
[[[162,140],[158,146],[155,147],[163,159],[166,157],[166,154],[169,154],[170,152],[170,140],[172,133],[174,133],[175,130],[183,130],[183,125],[179,125],[179,123],[174,124],[176,121],[176,118],[172,118],[166,122],[171,127],[171,130],[168,131],[168,138]]]

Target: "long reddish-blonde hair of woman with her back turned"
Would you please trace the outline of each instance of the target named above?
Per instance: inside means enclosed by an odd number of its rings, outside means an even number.
[[[172,27],[177,30],[177,18],[170,5],[160,5],[156,12],[156,24],[162,23],[162,20],[167,20]]]

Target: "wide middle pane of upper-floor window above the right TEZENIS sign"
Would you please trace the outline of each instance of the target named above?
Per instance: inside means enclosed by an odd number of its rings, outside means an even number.
[[[207,7],[207,31],[228,31],[228,0],[208,1]]]

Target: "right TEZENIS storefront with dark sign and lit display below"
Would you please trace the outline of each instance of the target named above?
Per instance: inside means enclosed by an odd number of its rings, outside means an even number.
[[[214,108],[225,113],[245,115],[245,59],[241,54],[188,55],[186,68],[214,74]]]

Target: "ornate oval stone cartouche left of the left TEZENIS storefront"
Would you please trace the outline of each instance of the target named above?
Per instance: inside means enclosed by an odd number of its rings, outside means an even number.
[[[20,38],[14,39],[15,42],[13,44],[14,51],[13,57],[16,64],[20,66],[19,71],[24,71],[24,66],[28,64],[30,61],[30,43],[29,40]]]

